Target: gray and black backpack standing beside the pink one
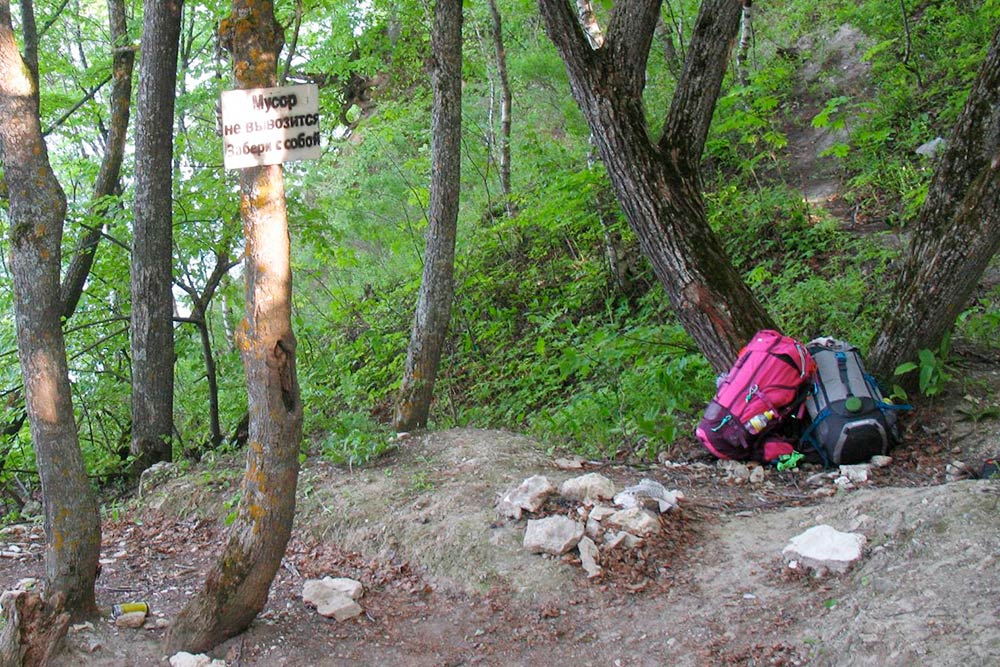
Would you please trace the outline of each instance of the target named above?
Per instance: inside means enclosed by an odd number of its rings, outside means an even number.
[[[817,338],[806,345],[816,362],[813,389],[806,398],[812,423],[802,435],[827,466],[865,463],[886,454],[899,439],[896,410],[850,343]]]

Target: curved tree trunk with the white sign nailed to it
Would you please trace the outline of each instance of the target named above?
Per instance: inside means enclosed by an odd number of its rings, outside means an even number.
[[[241,88],[275,84],[283,35],[272,2],[234,0],[220,37]],[[292,274],[281,166],[240,177],[246,235],[246,319],[238,346],[249,394],[250,437],[236,520],[204,588],[167,637],[170,652],[200,652],[242,632],[267,602],[292,530],[302,403],[291,327]]]

